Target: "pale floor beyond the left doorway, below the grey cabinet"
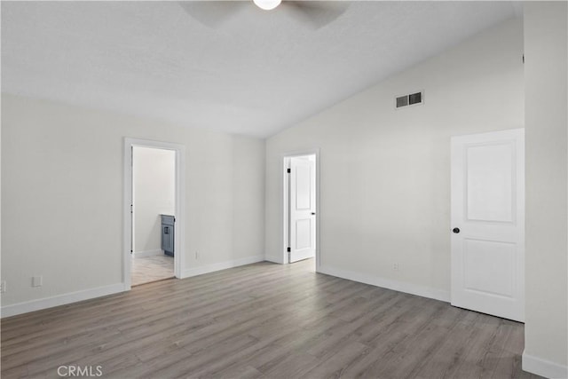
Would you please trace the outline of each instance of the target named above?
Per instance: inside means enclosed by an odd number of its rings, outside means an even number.
[[[130,258],[130,285],[151,283],[174,277],[174,257],[160,256]]]

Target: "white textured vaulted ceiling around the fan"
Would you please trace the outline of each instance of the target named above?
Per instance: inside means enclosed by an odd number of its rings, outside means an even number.
[[[250,3],[209,28],[177,2],[3,1],[2,91],[267,137],[516,11],[354,2],[312,28]]]

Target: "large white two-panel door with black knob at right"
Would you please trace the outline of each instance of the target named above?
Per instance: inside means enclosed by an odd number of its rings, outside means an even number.
[[[452,304],[525,320],[525,130],[452,138]]]

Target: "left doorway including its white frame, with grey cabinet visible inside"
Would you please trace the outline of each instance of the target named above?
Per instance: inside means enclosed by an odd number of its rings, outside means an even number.
[[[125,289],[181,276],[185,148],[124,139]]]

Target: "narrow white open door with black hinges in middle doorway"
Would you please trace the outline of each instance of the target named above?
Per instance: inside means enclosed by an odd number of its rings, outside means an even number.
[[[316,253],[314,157],[290,158],[289,178],[289,262],[296,262]]]

